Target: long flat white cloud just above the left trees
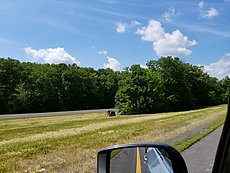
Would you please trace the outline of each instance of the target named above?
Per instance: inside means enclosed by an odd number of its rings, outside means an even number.
[[[42,60],[45,63],[49,64],[58,64],[66,63],[72,64],[75,63],[80,65],[80,62],[76,60],[75,57],[69,55],[64,48],[48,48],[48,49],[39,49],[35,50],[31,47],[24,48],[25,53],[35,61]]]

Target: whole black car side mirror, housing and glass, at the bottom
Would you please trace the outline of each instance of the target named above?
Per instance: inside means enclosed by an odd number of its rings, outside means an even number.
[[[166,144],[123,144],[101,149],[98,173],[188,173],[181,154]]]

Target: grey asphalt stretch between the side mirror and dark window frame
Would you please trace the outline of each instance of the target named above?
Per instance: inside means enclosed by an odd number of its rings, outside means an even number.
[[[223,126],[182,152],[189,173],[211,173]]]

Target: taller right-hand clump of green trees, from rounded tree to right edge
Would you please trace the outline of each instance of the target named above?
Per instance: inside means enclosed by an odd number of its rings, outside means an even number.
[[[203,67],[162,57],[132,65],[121,74],[116,105],[122,114],[195,109],[227,103],[230,78],[218,80]]]

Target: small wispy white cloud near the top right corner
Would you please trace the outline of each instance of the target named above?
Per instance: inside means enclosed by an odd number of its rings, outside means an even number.
[[[209,9],[205,9],[204,1],[201,1],[198,4],[198,7],[200,9],[200,17],[204,19],[212,19],[215,16],[218,16],[218,10],[211,7]]]

